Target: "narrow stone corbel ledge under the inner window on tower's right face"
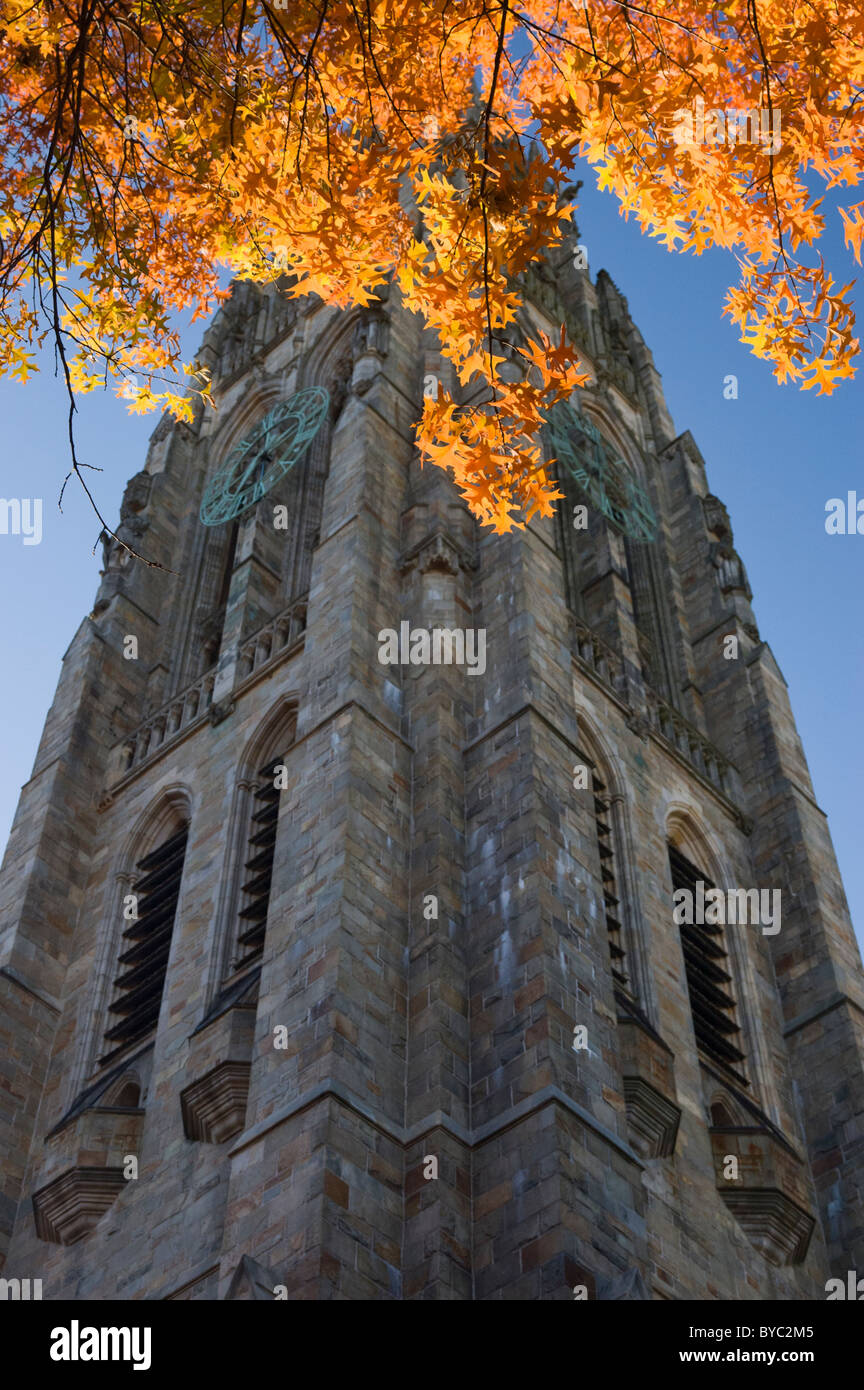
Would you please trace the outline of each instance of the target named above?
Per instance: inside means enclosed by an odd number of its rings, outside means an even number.
[[[631,1143],[640,1158],[668,1158],[681,1120],[672,1052],[647,1020],[620,1016],[618,1034]]]

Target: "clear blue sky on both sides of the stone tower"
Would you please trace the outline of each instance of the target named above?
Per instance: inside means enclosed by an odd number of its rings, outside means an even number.
[[[692,431],[710,486],[729,509],[760,632],[789,685],[861,940],[864,535],[826,535],[825,503],[849,491],[864,498],[864,381],[846,382],[832,396],[776,385],[770,368],[739,345],[721,317],[735,272],[732,257],[722,252],[699,259],[671,254],[618,215],[613,197],[593,189],[589,170],[579,177],[586,186],[578,220],[592,277],[606,267],[626,295],[663,374],[676,428]],[[824,250],[835,279],[845,284],[857,267],[835,222]],[[858,317],[864,328],[861,295]],[[203,329],[199,322],[186,334],[189,356]],[[50,360],[47,367],[25,386],[0,381],[0,493],[43,499],[40,545],[0,535],[3,841],[18,790],[31,773],[60,659],[93,605],[101,555],[101,548],[90,553],[99,523],[79,486],[69,484],[63,514],[57,510],[68,467],[67,403]],[[738,377],[736,400],[724,399],[728,374]],[[104,470],[89,477],[104,516],[115,521],[125,482],[143,466],[156,417],[129,416],[106,392],[82,398],[79,404],[79,456]]]

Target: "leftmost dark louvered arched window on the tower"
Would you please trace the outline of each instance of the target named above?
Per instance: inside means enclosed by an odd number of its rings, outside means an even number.
[[[138,898],[138,919],[124,931],[121,973],[108,1006],[114,1022],[106,1033],[106,1042],[114,1047],[99,1059],[100,1066],[158,1023],[188,834],[186,824],[136,865],[140,877],[132,891]]]

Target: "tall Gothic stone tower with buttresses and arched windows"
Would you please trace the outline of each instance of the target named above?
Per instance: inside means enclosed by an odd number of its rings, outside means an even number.
[[[553,520],[496,538],[419,467],[447,367],[396,292],[235,286],[218,411],[163,420],[126,488],[174,573],[106,543],[0,884],[4,1275],[44,1298],[864,1270],[864,980],[729,517],[608,275],[565,246],[524,292],[590,367],[606,480]],[[203,525],[310,386],[301,460]],[[451,660],[382,660],[403,624]],[[725,923],[678,922],[711,885]],[[742,920],[754,890],[782,917]]]

